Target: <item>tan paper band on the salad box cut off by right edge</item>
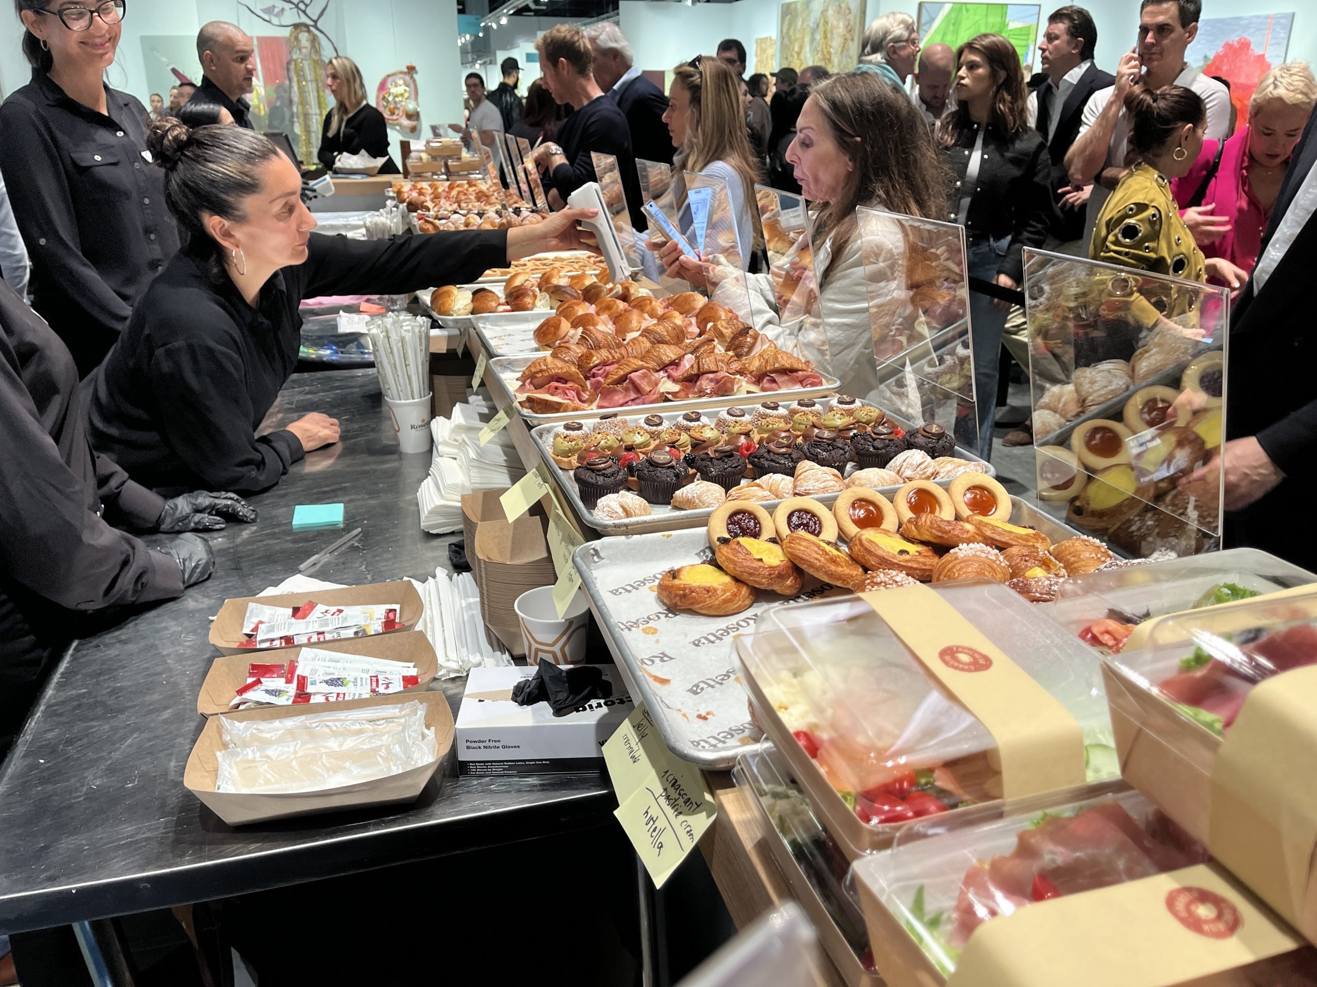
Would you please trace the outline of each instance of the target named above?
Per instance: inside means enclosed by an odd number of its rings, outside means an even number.
[[[1208,849],[1317,940],[1317,666],[1258,683],[1212,762]]]

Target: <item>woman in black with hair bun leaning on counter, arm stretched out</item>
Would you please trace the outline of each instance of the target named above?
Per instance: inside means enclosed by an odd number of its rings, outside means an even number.
[[[303,297],[469,282],[519,257],[586,246],[576,224],[595,215],[374,242],[325,237],[311,232],[296,166],[263,136],[165,120],[149,145],[188,246],[84,382],[92,445],[148,487],[255,492],[337,441],[338,422],[321,413],[255,436],[296,366]]]

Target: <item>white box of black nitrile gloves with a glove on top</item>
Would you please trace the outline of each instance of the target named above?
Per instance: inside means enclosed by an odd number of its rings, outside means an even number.
[[[626,683],[598,667],[612,696],[591,699],[566,716],[548,703],[518,705],[512,687],[535,669],[471,669],[457,712],[457,761],[464,775],[540,775],[603,770],[603,742],[631,715]]]

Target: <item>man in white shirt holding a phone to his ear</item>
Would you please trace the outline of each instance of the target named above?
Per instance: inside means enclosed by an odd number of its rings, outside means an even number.
[[[1102,203],[1126,171],[1129,125],[1125,96],[1131,87],[1160,89],[1163,86],[1183,86],[1193,89],[1208,107],[1206,137],[1225,139],[1230,129],[1229,89],[1184,61],[1185,49],[1198,33],[1201,14],[1202,0],[1143,0],[1138,45],[1121,57],[1115,84],[1098,89],[1084,105],[1079,138],[1065,155],[1065,170],[1075,188],[1093,183],[1084,224],[1085,243],[1093,234]]]

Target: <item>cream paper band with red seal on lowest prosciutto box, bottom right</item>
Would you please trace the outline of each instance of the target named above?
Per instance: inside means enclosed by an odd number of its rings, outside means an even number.
[[[1197,865],[993,919],[947,987],[1164,987],[1303,945],[1222,869]]]

